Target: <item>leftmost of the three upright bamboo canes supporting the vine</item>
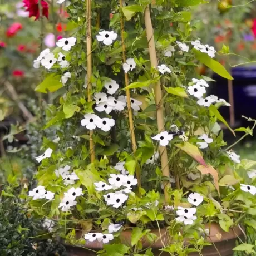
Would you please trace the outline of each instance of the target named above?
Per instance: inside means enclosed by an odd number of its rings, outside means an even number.
[[[91,37],[91,0],[86,3],[86,47],[87,47],[87,93],[88,102],[92,101],[92,37]],[[92,139],[93,130],[90,131],[90,156],[91,163],[95,160],[94,141]]]

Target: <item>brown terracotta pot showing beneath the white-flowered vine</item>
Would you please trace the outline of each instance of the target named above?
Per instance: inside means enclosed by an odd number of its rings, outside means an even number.
[[[208,228],[207,225],[206,228]],[[144,248],[151,247],[152,252],[154,252],[154,255],[157,256],[160,255],[161,251],[159,251],[159,249],[163,248],[163,244],[166,246],[171,243],[171,238],[168,237],[165,229],[160,229],[160,232],[158,229],[155,229],[152,230],[151,232],[156,234],[159,237],[159,239],[157,239],[154,244],[149,243],[147,240],[144,240],[142,244]],[[210,234],[207,237],[207,241],[212,243],[212,245],[205,246],[201,253],[203,254],[203,256],[232,256],[232,249],[235,247],[235,240],[241,233],[242,232],[238,227],[230,229],[229,232],[225,232],[223,229],[220,228],[219,224],[212,223],[210,226]],[[79,239],[81,237],[82,233],[77,232],[77,238]],[[127,230],[121,232],[120,239],[122,240],[122,243],[130,245],[131,231]],[[75,247],[66,244],[66,250],[68,256],[95,256],[96,253],[92,252],[91,250],[101,250],[102,246],[102,242],[98,241],[89,242],[84,247]],[[170,254],[167,252],[161,253],[161,256],[169,255]],[[189,256],[199,256],[199,254],[190,253]]]

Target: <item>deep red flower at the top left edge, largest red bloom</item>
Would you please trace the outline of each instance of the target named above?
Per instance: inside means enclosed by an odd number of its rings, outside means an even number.
[[[38,6],[38,0],[23,0],[24,7],[26,7],[26,12],[29,12],[29,18],[30,17],[36,17],[35,21],[39,18],[40,12],[39,12],[39,6]],[[42,4],[42,14],[48,19],[49,16],[49,7],[48,3],[44,0],[41,0]]]

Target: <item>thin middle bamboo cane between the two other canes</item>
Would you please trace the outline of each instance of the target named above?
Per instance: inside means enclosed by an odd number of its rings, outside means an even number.
[[[120,0],[120,9],[121,8],[122,8],[122,0]],[[125,28],[124,28],[124,17],[122,15],[120,15],[120,26],[121,26],[121,40],[122,40],[122,60],[125,63],[126,62]],[[127,87],[128,85],[129,85],[129,77],[128,77],[128,74],[125,73],[125,87]],[[130,90],[126,88],[125,92],[126,92],[126,98],[127,98],[131,145],[132,145],[132,151],[135,153],[137,146],[136,146],[136,139],[135,139],[135,132],[134,132],[134,120],[132,119]],[[140,169],[137,167],[136,167],[136,178],[138,180],[138,187],[140,188],[141,174],[140,174]]]

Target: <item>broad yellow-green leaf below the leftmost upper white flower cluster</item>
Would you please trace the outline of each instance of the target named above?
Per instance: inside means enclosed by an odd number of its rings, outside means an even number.
[[[43,80],[36,88],[35,91],[47,93],[47,90],[50,92],[55,92],[60,89],[63,85],[60,82],[61,75],[56,75],[52,73],[48,75],[45,80]]]

